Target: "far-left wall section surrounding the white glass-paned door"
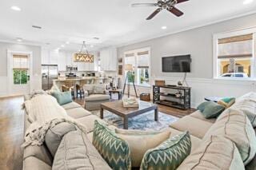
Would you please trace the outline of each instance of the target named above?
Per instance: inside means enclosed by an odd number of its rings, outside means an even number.
[[[31,87],[30,89],[41,89],[41,47],[34,45],[13,44],[7,42],[0,42],[0,97],[13,95],[8,92],[8,77],[7,77],[7,50],[22,51],[33,53],[33,75],[30,75]],[[10,90],[11,91],[11,90]]]

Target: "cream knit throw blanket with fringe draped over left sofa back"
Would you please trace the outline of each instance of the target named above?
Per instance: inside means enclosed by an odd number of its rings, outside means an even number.
[[[87,132],[86,127],[69,117],[66,110],[50,95],[38,95],[30,101],[25,101],[25,109],[28,116],[32,117],[33,123],[26,129],[25,143],[22,147],[30,144],[42,145],[47,130],[62,122],[73,124],[82,132]]]

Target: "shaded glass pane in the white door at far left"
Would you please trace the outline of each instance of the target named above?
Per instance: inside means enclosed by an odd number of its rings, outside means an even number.
[[[29,63],[26,55],[13,56],[14,85],[26,85],[29,81]]]

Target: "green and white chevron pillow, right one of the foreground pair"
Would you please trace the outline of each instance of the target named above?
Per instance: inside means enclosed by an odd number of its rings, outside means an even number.
[[[191,140],[189,132],[171,136],[157,148],[148,150],[142,160],[140,170],[178,168],[186,156],[190,155]]]

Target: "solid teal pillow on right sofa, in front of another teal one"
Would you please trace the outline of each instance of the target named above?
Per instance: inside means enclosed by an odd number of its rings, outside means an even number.
[[[218,105],[217,103],[210,101],[206,108],[202,111],[202,115],[206,117],[206,119],[218,117],[223,111],[225,107],[223,105]]]

